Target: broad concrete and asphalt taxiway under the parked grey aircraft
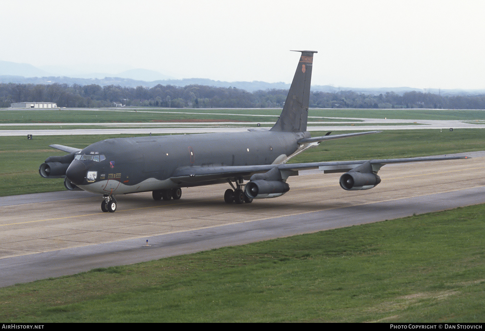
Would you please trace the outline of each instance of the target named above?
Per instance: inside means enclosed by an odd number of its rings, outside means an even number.
[[[227,185],[184,189],[177,201],[116,196],[115,213],[83,192],[2,198],[0,286],[485,203],[485,152],[467,155],[386,165],[366,191],[342,190],[340,174],[302,172],[284,196],[242,205],[224,202]]]

